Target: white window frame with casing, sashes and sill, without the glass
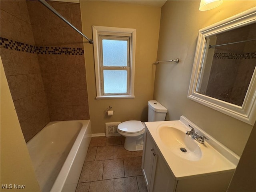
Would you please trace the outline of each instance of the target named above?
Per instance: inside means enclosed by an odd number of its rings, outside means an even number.
[[[105,26],[92,26],[93,34],[93,47],[94,47],[94,66],[95,66],[95,78],[96,78],[96,99],[112,99],[112,98],[135,98],[134,96],[134,74],[135,74],[135,40],[136,40],[136,29],[130,28],[116,28],[116,27],[105,27]],[[125,94],[104,94],[103,88],[103,69],[109,67],[102,66],[102,36],[113,36],[118,38],[130,38],[129,43],[129,57],[127,67],[111,67],[111,70],[127,70],[127,93]]]

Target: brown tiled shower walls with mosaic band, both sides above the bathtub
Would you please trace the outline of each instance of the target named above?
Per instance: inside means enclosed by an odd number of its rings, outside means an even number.
[[[48,2],[78,29],[80,5]],[[1,1],[1,58],[26,142],[48,122],[89,119],[82,37],[38,1]]]

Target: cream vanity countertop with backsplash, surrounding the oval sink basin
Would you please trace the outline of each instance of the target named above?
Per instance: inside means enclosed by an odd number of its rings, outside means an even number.
[[[209,134],[198,128],[184,116],[180,120],[162,121],[162,122],[146,122],[146,127],[158,146],[162,156],[166,160],[173,176],[178,180],[198,175],[212,175],[220,172],[233,172],[239,161],[239,156],[231,150],[220,144]],[[204,135],[209,138],[204,144],[198,143],[191,136],[186,135],[186,131],[191,130],[188,124],[195,128],[199,135]],[[189,137],[193,142],[198,144],[201,150],[200,158],[196,160],[188,160],[182,156],[174,154],[169,147],[164,144],[159,135],[159,128],[170,126],[184,132],[184,137]],[[187,139],[187,138],[186,138]],[[178,139],[177,139],[178,141]],[[179,141],[178,141],[179,142]],[[182,152],[180,152],[182,153]]]

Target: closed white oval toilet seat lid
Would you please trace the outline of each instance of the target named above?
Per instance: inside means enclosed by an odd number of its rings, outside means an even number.
[[[118,125],[118,130],[124,133],[138,133],[144,130],[144,125],[141,121],[125,121]]]

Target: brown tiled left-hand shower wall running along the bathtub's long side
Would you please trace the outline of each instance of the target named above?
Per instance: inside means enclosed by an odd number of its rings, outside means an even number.
[[[18,41],[34,45],[26,1],[1,1],[0,7],[1,42],[6,38],[7,44]],[[3,45],[1,59],[4,71],[24,138],[28,141],[50,122],[37,54],[22,51],[22,44],[15,44],[18,51]]]

